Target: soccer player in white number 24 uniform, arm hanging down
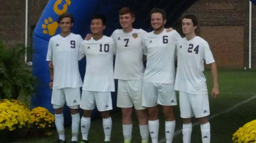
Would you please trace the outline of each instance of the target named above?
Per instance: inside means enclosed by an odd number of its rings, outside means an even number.
[[[210,114],[204,61],[211,64],[213,77],[212,97],[219,94],[217,66],[210,47],[204,39],[195,35],[197,18],[186,15],[182,19],[182,31],[186,35],[176,44],[177,74],[174,89],[179,91],[180,116],[183,118],[183,143],[190,143],[192,133],[191,117],[201,124],[202,143],[210,143]]]

